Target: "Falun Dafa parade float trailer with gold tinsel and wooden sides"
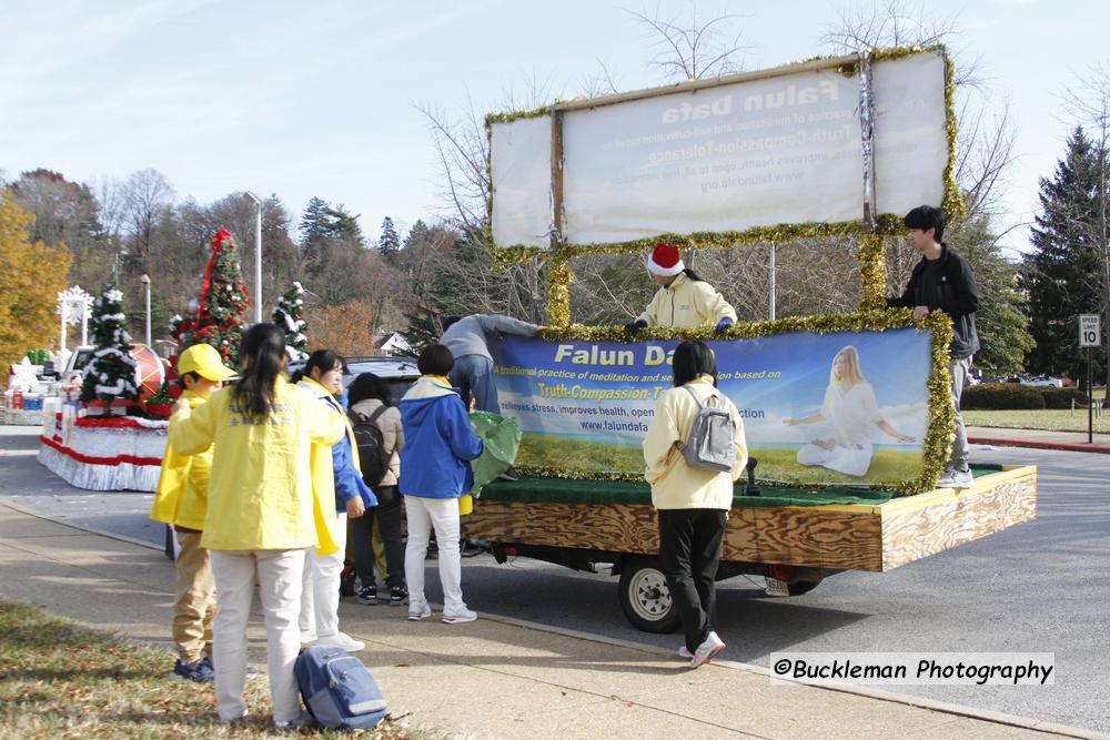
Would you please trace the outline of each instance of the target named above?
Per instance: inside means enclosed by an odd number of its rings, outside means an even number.
[[[885,572],[1036,517],[1035,467],[979,467],[970,488],[936,488],[953,432],[951,324],[886,308],[884,237],[901,235],[901,216],[922,203],[949,216],[963,207],[942,48],[557,102],[491,115],[487,130],[491,250],[502,264],[543,260],[548,274],[543,338],[505,337],[494,353],[502,410],[521,422],[522,477],[487,486],[464,517],[466,535],[498,560],[612,564],[636,627],[676,627],[638,443],[669,386],[666,357],[686,338],[714,348],[719,387],[759,460],[758,496],[736,487],[718,578],[766,575],[797,595],[830,574]],[[579,257],[644,254],[658,241],[731,249],[824,237],[858,240],[855,314],[635,338],[571,322]],[[803,464],[807,437],[783,423],[823,408],[829,363],[848,345],[876,418],[915,439],[890,444],[872,430],[857,446],[868,450],[861,475]]]

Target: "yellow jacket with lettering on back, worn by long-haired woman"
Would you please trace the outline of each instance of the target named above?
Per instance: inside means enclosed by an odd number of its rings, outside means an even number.
[[[216,391],[195,410],[174,414],[170,424],[170,445],[182,455],[214,445],[201,545],[286,550],[319,544],[322,555],[334,553],[323,517],[324,511],[334,517],[334,497],[325,504],[313,495],[313,481],[323,474],[310,457],[313,443],[335,444],[343,436],[343,420],[282,377],[274,383],[273,410],[261,424],[230,407],[231,392]]]

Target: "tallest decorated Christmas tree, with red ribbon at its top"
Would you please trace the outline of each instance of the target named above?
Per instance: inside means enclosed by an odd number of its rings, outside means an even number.
[[[226,229],[221,229],[212,237],[212,256],[204,271],[190,344],[211,344],[223,355],[226,365],[239,367],[239,327],[246,317],[249,305],[235,242]]]

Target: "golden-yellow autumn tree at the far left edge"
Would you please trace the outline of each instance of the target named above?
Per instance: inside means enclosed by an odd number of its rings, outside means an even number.
[[[32,242],[34,217],[0,193],[0,367],[48,346],[58,331],[58,293],[71,255],[64,245]],[[3,377],[7,378],[7,372]],[[4,381],[7,382],[7,381]]]

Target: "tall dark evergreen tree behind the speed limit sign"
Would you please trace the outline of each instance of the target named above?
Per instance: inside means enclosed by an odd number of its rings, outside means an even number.
[[[1030,332],[1037,346],[1029,369],[1086,378],[1079,351],[1078,316],[1101,310],[1098,148],[1077,128],[1052,180],[1040,182],[1042,213],[1032,230],[1033,252],[1026,260]],[[1094,357],[1094,376],[1104,374]]]

